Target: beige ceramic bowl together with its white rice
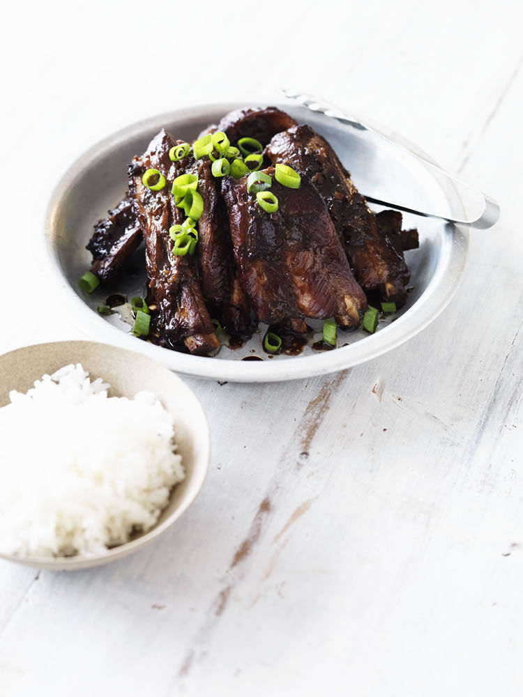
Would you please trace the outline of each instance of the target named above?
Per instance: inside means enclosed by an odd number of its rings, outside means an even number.
[[[195,500],[202,406],[144,355],[95,342],[0,356],[0,557],[83,569],[137,551]]]

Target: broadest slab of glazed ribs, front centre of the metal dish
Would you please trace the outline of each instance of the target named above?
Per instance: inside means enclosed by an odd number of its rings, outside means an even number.
[[[265,170],[273,176],[274,169]],[[298,189],[273,179],[278,210],[266,213],[247,189],[247,177],[222,190],[241,283],[259,321],[304,327],[303,318],[335,317],[357,327],[365,295],[356,283],[324,200],[306,176]]]

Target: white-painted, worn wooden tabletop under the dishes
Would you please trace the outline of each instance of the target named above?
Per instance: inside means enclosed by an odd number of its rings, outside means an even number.
[[[197,503],[108,567],[0,562],[1,697],[522,694],[520,18],[510,0],[343,6],[4,10],[1,351],[84,336],[46,304],[50,191],[94,141],[181,105],[316,91],[502,212],[397,351],[294,383],[188,379],[213,438]]]

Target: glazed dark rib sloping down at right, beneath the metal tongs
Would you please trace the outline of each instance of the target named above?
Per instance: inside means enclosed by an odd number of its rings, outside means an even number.
[[[289,164],[310,177],[326,201],[354,275],[365,292],[378,291],[386,300],[402,302],[409,282],[402,254],[380,229],[328,142],[310,126],[294,125],[273,137],[267,153],[272,162]]]

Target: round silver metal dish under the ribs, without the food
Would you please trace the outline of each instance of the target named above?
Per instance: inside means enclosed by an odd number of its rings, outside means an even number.
[[[407,252],[411,270],[409,298],[402,310],[391,319],[381,320],[374,335],[363,329],[356,332],[338,331],[338,347],[318,352],[305,346],[300,355],[269,357],[264,353],[261,339],[264,326],[245,346],[236,350],[222,346],[213,358],[193,356],[154,346],[130,334],[130,325],[119,314],[101,317],[96,307],[112,292],[144,295],[145,273],[127,275],[112,287],[98,286],[91,295],[83,293],[78,278],[89,268],[91,255],[85,245],[92,234],[93,224],[105,217],[126,192],[127,167],[132,157],[142,153],[151,138],[165,127],[175,137],[191,140],[209,123],[243,104],[206,105],[149,118],[115,133],[82,155],[63,176],[53,194],[45,219],[47,260],[61,300],[68,307],[75,324],[92,337],[123,346],[185,374],[220,381],[264,382],[290,380],[335,372],[391,351],[416,335],[435,319],[450,301],[464,270],[469,233],[438,220],[404,215],[404,228],[418,227],[420,248]],[[420,204],[434,210],[453,210],[460,207],[453,188],[444,190],[441,184],[414,158],[409,158],[393,144],[368,132],[356,130],[304,107],[287,103],[278,106],[300,123],[310,123],[330,141],[340,160],[354,179],[358,189],[379,190],[383,185],[391,200],[402,200],[402,192],[414,194]],[[389,135],[381,128],[384,135]],[[390,135],[389,135],[390,136]],[[396,141],[420,153],[405,139]],[[426,155],[425,155],[426,157]],[[376,208],[377,210],[377,208]],[[142,245],[143,247],[143,245]],[[137,252],[137,266],[143,268],[143,250]],[[320,328],[321,323],[308,323]],[[318,339],[321,332],[315,339]],[[227,337],[220,337],[222,343]],[[312,342],[311,342],[312,343]],[[245,361],[257,355],[263,361]]]

